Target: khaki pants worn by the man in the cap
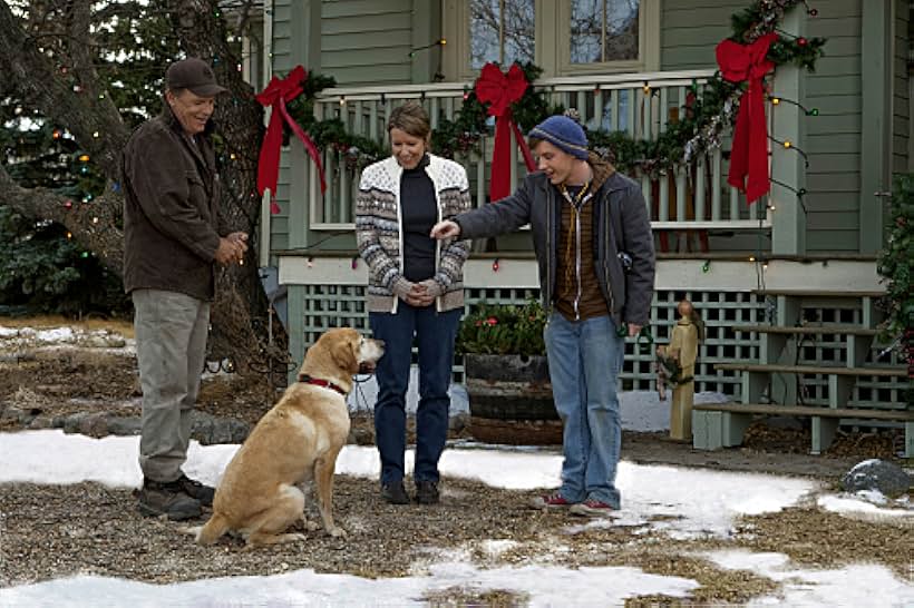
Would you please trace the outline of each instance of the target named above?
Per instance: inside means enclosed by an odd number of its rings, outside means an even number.
[[[139,467],[146,479],[167,483],[181,477],[187,458],[210,303],[159,290],[136,290],[132,295],[143,388]]]

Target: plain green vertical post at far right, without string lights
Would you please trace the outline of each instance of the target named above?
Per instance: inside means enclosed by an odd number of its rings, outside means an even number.
[[[873,253],[883,243],[884,199],[876,193],[892,189],[892,2],[862,6],[859,251]]]

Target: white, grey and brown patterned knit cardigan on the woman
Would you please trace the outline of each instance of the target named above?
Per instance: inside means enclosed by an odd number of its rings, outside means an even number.
[[[435,186],[438,220],[469,209],[469,184],[464,167],[429,154],[426,173]],[[396,313],[398,293],[406,293],[403,276],[402,214],[400,177],[402,167],[395,157],[366,167],[356,198],[356,238],[359,254],[368,263],[368,310]],[[464,262],[469,241],[439,241],[436,245],[435,282],[440,288],[438,312],[464,306]]]

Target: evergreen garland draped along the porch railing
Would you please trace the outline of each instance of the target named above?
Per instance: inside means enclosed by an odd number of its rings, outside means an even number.
[[[768,49],[767,59],[775,66],[795,65],[813,71],[823,55],[824,38],[794,37],[782,32],[779,26],[787,11],[798,4],[816,17],[804,0],[757,0],[731,17],[731,40],[746,45],[760,36],[776,32],[778,39]],[[534,82],[542,69],[533,63],[519,63],[528,82]],[[289,105],[289,111],[304,128],[314,143],[323,149],[337,149],[344,154],[350,168],[363,167],[389,155],[380,141],[353,135],[346,130],[339,118],[315,120],[313,104],[315,95],[334,80],[325,76],[311,76],[304,82],[304,92]],[[703,86],[692,82],[680,116],[667,124],[665,130],[653,140],[635,139],[625,131],[591,130],[591,147],[609,158],[623,173],[657,175],[682,163],[691,163],[698,155],[720,146],[725,129],[736,120],[739,97],[746,84],[733,84],[716,73]],[[645,89],[646,96],[651,95]],[[634,102],[631,100],[630,102]],[[523,131],[531,129],[551,114],[563,111],[551,106],[547,91],[528,87],[524,96],[511,106],[514,120]],[[436,154],[454,157],[456,153],[476,150],[478,141],[489,134],[486,108],[474,90],[464,94],[464,101],[454,119],[440,116],[432,134],[431,146]],[[477,150],[478,151],[478,150]]]

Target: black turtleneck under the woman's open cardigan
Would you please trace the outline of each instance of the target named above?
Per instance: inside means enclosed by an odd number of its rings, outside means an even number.
[[[426,173],[428,155],[400,178],[400,213],[403,222],[403,276],[419,283],[435,276],[435,239],[429,233],[438,222],[435,184]]]

